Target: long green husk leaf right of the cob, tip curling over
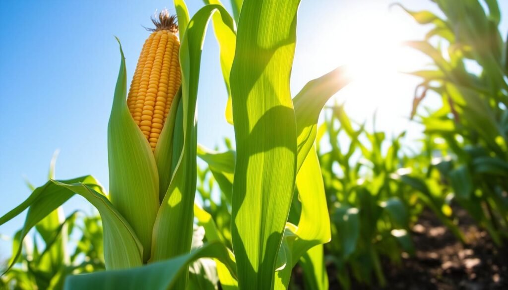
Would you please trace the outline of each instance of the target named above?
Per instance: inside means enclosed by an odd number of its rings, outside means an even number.
[[[233,19],[217,5],[201,8],[189,21],[180,46],[182,70],[182,150],[173,155],[176,162],[173,177],[153,228],[151,261],[161,261],[188,253],[193,234],[193,207],[196,195],[196,102],[201,65],[201,49],[208,21],[214,11],[219,11],[225,23],[234,28]],[[185,287],[186,275],[178,282]]]

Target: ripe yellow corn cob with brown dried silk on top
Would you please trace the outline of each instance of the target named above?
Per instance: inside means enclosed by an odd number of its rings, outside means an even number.
[[[176,36],[178,26],[175,16],[167,10],[153,19],[155,25],[145,41],[129,90],[129,111],[152,151],[168,117],[174,95],[180,87],[178,51],[180,41]]]

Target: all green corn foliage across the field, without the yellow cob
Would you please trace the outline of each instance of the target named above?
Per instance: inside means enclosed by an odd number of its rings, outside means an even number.
[[[146,142],[124,102],[122,57],[108,130],[110,194],[91,176],[53,180],[52,162],[50,181],[29,185],[33,194],[0,218],[28,208],[1,286],[328,289],[331,267],[343,288],[384,286],[380,261],[397,265],[415,253],[411,229],[424,210],[463,243],[458,208],[497,246],[506,243],[508,45],[495,0],[435,0],[443,17],[406,10],[429,27],[426,39],[406,43],[432,61],[412,73],[422,80],[411,116],[424,127],[419,140],[376,131],[375,118],[358,122],[327,103],[349,81],[344,68],[292,98],[298,1],[232,0],[231,15],[205,2],[191,18],[175,0],[182,86],[166,121],[173,127],[157,147]],[[220,151],[197,144],[194,119],[209,19],[236,135]],[[274,19],[276,28],[265,25]],[[424,107],[427,95],[441,106]],[[61,204],[74,194],[100,215],[66,215]]]

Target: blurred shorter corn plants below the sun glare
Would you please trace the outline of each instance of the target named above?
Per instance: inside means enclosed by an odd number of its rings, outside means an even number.
[[[344,104],[327,111],[317,134],[332,221],[325,250],[344,288],[352,279],[384,286],[381,257],[400,265],[402,252],[414,254],[410,229],[425,207],[462,238],[440,179],[427,174],[430,158],[403,145],[404,132],[389,138],[377,131],[375,114],[369,131]]]

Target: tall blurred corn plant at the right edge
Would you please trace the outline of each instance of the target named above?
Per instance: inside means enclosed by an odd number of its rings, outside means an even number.
[[[412,116],[425,126],[430,175],[441,175],[441,195],[466,209],[499,245],[508,235],[508,46],[499,32],[496,0],[434,1],[444,17],[410,11],[428,24],[426,39],[411,41],[432,59],[412,73],[417,87]],[[427,92],[438,110],[419,110]],[[422,190],[426,190],[422,188]]]

